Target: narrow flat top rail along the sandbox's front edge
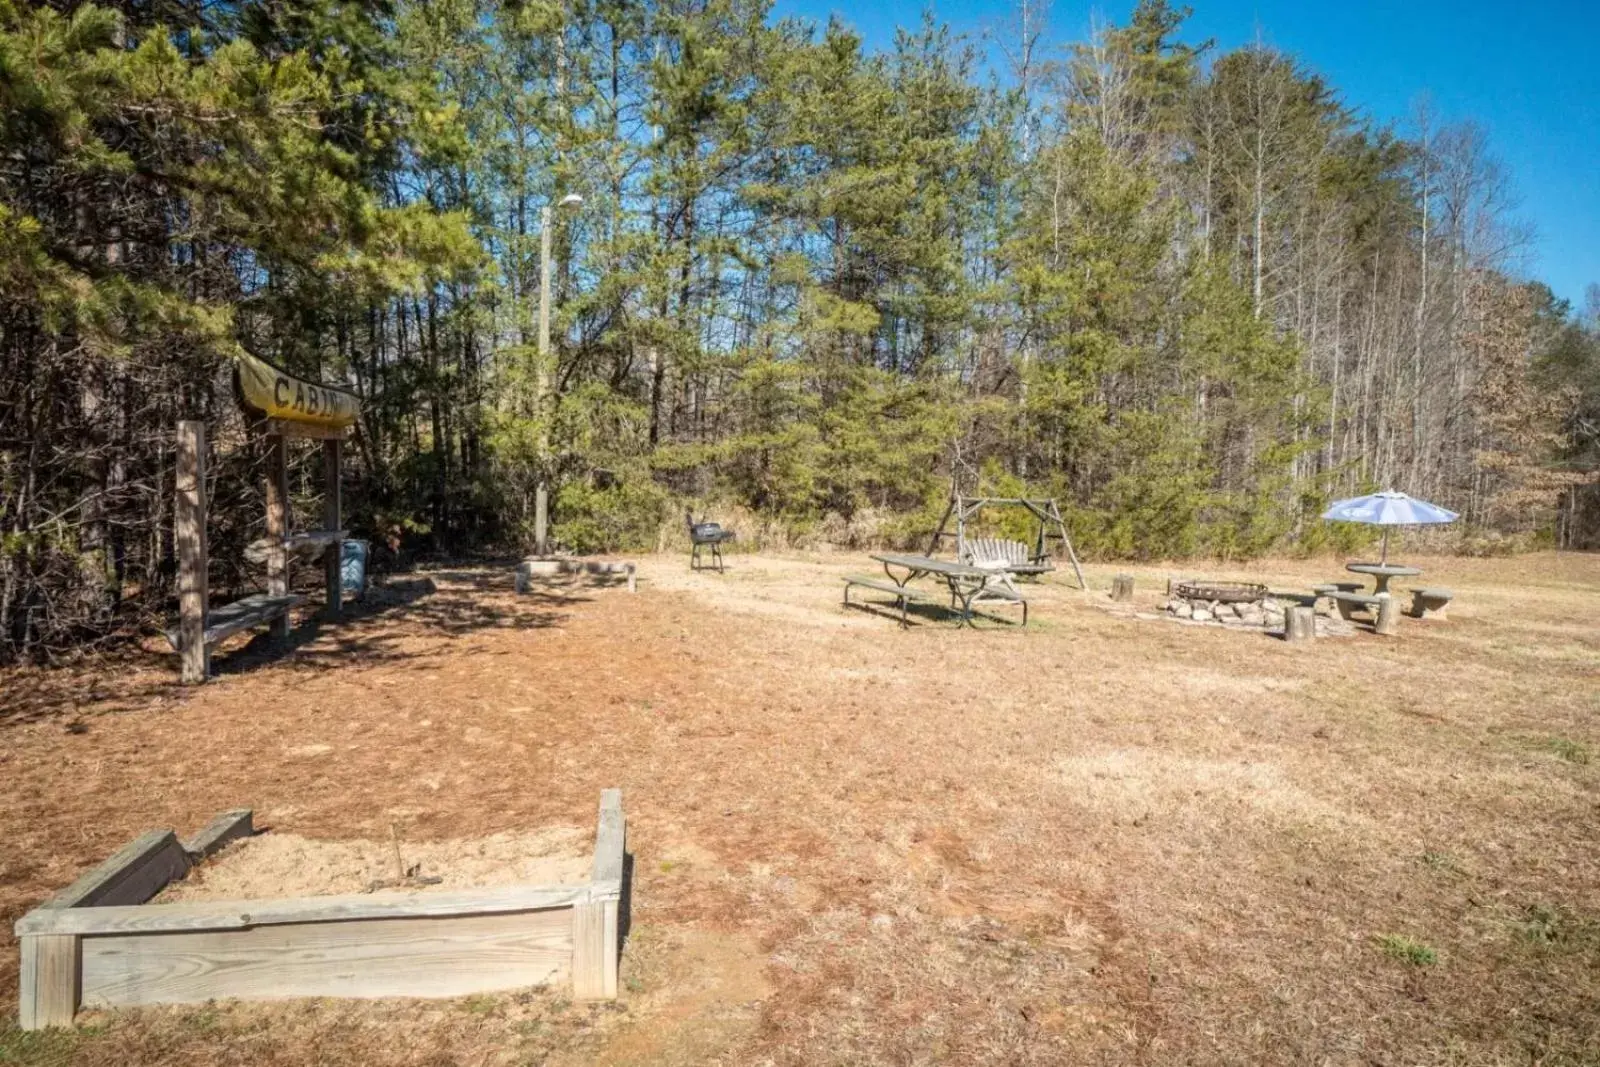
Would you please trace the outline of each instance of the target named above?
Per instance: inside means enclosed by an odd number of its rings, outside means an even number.
[[[496,886],[451,893],[354,893],[262,901],[203,901],[144,907],[38,907],[16,921],[18,934],[158,934],[248,929],[365,918],[499,915],[587,901],[587,885]]]

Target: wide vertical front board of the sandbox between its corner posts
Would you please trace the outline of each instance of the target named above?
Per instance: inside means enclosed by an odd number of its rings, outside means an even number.
[[[83,939],[83,1005],[461,997],[571,973],[570,909]]]

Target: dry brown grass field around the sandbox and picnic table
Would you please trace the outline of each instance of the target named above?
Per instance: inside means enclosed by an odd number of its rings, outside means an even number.
[[[838,606],[859,558],[661,557],[634,597],[394,579],[195,691],[154,654],[0,675],[8,1005],[24,910],[230,806],[432,841],[621,785],[635,853],[614,1005],[8,1014],[0,1064],[1600,1062],[1600,558],[1421,565],[1456,606],[1394,640],[1115,614],[1112,568],[1026,630],[902,632]]]

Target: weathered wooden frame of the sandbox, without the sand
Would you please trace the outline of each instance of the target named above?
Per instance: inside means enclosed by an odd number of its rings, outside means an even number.
[[[187,841],[152,830],[16,921],[19,1024],[78,1008],[218,998],[462,997],[571,981],[616,997],[626,928],[622,792],[600,793],[582,885],[146,904],[200,857],[250,837],[227,811]]]

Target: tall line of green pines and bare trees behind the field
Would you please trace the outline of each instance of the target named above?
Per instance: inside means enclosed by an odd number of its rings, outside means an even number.
[[[526,547],[541,482],[576,550],[685,506],[912,541],[952,485],[1096,557],[1315,550],[1384,486],[1600,539],[1600,296],[1517,272],[1478,126],[1165,0],[1042,14],[870,51],[766,0],[0,0],[0,657],[170,608],[184,418],[213,581],[259,579],[240,352],[360,395],[397,555]]]

